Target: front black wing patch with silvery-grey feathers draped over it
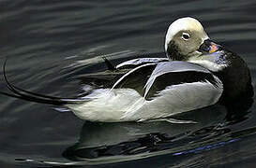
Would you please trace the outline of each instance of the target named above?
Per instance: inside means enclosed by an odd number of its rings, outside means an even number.
[[[203,66],[187,62],[167,62],[158,63],[144,86],[143,97],[150,100],[158,95],[159,91],[172,86],[177,87],[177,85],[185,87],[189,84],[190,86],[192,83],[208,84],[214,86],[218,93],[222,93],[221,81]]]

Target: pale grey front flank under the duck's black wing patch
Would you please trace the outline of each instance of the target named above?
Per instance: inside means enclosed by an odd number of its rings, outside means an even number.
[[[222,83],[217,79],[217,87],[210,82],[194,82],[173,85],[158,92],[151,101],[145,101],[136,111],[129,110],[122,119],[148,120],[173,116],[208,105],[214,105],[223,91]]]

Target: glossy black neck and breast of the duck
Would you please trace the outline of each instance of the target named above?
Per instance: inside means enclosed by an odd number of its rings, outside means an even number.
[[[228,64],[223,69],[213,72],[223,83],[223,94],[220,103],[233,104],[253,96],[251,77],[247,63],[235,53],[225,50],[222,54]]]

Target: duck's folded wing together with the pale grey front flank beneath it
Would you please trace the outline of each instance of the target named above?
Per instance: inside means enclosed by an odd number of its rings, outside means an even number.
[[[137,82],[134,87],[129,82]],[[138,91],[144,103],[131,106],[123,119],[160,119],[218,102],[223,86],[218,77],[195,63],[164,62],[139,66],[121,77],[113,89]]]

